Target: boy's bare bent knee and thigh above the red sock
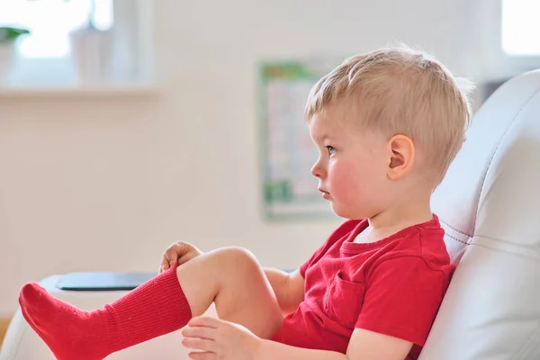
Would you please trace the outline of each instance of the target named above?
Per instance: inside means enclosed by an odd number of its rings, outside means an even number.
[[[196,274],[196,275],[194,275]],[[193,316],[211,302],[221,320],[271,338],[281,327],[283,313],[257,259],[241,247],[226,247],[194,257],[176,269]]]

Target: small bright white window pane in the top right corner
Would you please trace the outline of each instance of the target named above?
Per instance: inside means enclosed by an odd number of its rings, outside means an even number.
[[[502,0],[501,46],[509,55],[540,56],[538,0]]]

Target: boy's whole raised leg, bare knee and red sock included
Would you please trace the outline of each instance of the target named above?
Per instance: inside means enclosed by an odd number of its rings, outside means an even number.
[[[270,284],[246,250],[224,248],[173,267],[97,311],[81,311],[38,284],[20,295],[25,319],[59,360],[103,357],[183,328],[215,302],[221,319],[270,338],[282,315]]]

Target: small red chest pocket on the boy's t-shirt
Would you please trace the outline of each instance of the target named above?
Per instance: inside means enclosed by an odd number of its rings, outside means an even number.
[[[341,270],[338,271],[323,300],[327,317],[348,329],[354,329],[364,304],[364,294],[365,284],[345,280]]]

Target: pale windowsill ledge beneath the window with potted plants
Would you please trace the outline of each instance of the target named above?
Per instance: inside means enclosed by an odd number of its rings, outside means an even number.
[[[0,85],[0,99],[40,99],[73,97],[125,97],[155,96],[156,85],[112,84],[112,85]]]

